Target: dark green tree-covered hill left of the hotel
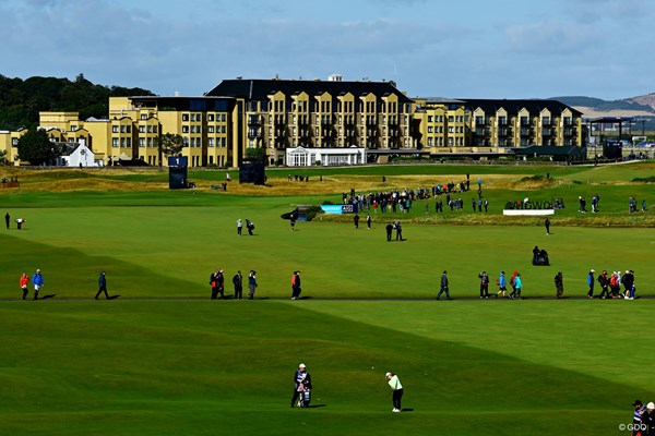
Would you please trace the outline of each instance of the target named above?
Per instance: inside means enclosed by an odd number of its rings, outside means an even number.
[[[38,125],[38,112],[80,112],[80,119],[107,118],[109,97],[152,96],[141,88],[96,85],[79,74],[74,81],[57,77],[9,78],[0,74],[0,130]]]

